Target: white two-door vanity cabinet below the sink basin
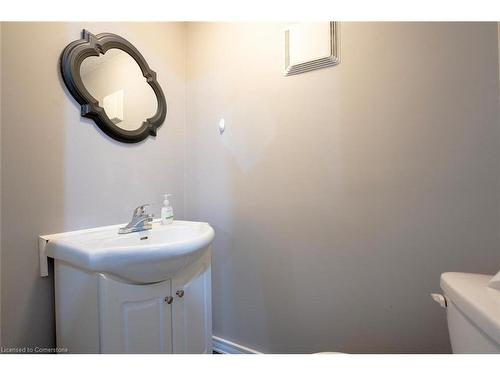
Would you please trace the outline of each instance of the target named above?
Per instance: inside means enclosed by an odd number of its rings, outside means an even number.
[[[172,278],[130,284],[55,260],[57,346],[70,353],[211,353],[211,251]]]

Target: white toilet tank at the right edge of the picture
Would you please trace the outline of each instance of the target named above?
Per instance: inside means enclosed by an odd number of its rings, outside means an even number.
[[[490,288],[491,275],[446,272],[446,298],[453,353],[500,353],[500,291]]]

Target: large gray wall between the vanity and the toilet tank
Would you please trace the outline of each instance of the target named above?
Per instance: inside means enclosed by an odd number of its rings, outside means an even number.
[[[343,23],[341,64],[294,77],[284,27],[188,26],[186,213],[216,230],[214,334],[449,352],[440,273],[500,268],[496,24]]]

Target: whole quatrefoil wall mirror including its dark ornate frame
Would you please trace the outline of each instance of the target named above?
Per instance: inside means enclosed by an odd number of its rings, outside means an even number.
[[[60,67],[81,115],[108,136],[127,143],[156,136],[167,113],[165,96],[156,73],[126,39],[83,30],[64,49]]]

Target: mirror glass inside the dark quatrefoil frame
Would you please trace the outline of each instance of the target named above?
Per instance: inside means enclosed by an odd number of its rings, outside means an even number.
[[[139,65],[126,52],[110,49],[83,60],[80,75],[109,119],[124,130],[136,130],[153,116],[157,100]]]

